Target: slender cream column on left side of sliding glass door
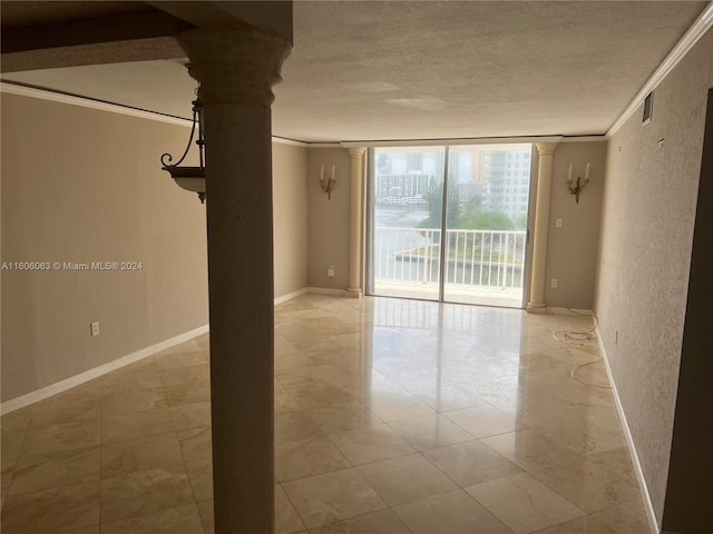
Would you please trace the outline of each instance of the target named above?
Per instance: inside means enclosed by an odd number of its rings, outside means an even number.
[[[362,287],[362,259],[361,259],[361,229],[362,219],[362,191],[364,179],[364,152],[363,148],[349,148],[352,158],[351,168],[351,208],[349,222],[349,289],[350,297],[361,297]]]

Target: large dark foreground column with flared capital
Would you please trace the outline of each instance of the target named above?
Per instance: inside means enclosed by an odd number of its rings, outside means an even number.
[[[290,43],[252,27],[178,42],[205,105],[215,532],[274,531],[272,86]]]

